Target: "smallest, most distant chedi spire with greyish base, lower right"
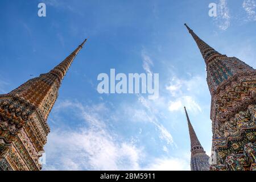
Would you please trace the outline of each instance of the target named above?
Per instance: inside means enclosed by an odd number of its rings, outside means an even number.
[[[188,130],[191,142],[191,171],[209,171],[209,156],[205,154],[204,148],[201,146],[201,143],[196,136],[195,130],[189,120],[186,107],[184,107],[184,109],[188,121]]]

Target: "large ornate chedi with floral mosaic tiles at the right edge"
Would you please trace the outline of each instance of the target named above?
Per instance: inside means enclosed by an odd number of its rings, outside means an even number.
[[[211,170],[256,170],[256,71],[208,46],[191,30],[207,66],[212,96]]]

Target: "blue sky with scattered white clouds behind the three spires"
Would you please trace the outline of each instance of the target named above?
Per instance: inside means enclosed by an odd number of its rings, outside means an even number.
[[[46,17],[38,3],[46,3]],[[217,4],[217,17],[208,15]],[[256,67],[255,0],[0,2],[0,93],[59,64],[85,38],[48,118],[44,170],[189,170],[183,106],[207,154],[210,94],[188,34]],[[159,73],[159,98],[99,94],[97,76]],[[33,75],[33,76],[30,76]]]

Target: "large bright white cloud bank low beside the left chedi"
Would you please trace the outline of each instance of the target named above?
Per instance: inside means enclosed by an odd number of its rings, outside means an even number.
[[[53,131],[48,139],[46,170],[139,169],[141,150],[130,143],[117,142],[104,130]]]

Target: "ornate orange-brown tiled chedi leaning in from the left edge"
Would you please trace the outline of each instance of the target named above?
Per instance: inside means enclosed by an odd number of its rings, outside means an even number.
[[[39,170],[47,142],[48,115],[73,59],[86,42],[50,72],[0,95],[0,171]]]

